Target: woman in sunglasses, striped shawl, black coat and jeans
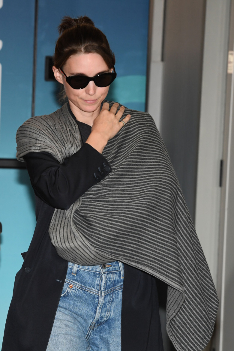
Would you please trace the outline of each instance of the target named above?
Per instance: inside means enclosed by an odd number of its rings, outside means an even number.
[[[16,135],[37,224],[2,350],[161,351],[154,277],[176,349],[202,350],[218,299],[165,146],[148,114],[103,102],[116,77],[105,35],[87,17],[59,29],[68,102]]]

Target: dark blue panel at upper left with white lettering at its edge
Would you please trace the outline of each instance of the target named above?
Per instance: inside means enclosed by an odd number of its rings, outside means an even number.
[[[4,0],[0,8],[0,158],[15,158],[16,130],[31,117],[33,29],[34,1]]]

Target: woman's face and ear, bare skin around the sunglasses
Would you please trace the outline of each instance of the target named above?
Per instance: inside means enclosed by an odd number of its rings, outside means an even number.
[[[55,71],[57,72],[55,73]],[[67,77],[75,74],[84,74],[88,77],[94,77],[99,73],[111,71],[112,70],[107,67],[101,55],[95,53],[72,55],[63,66],[63,72]],[[60,71],[54,69],[54,73],[55,78],[65,87],[72,111],[75,110],[82,114],[83,112],[93,113],[100,111],[100,105],[106,98],[109,86],[100,88],[95,85],[94,81],[90,81],[87,87],[83,89],[73,89],[66,82],[66,78]]]

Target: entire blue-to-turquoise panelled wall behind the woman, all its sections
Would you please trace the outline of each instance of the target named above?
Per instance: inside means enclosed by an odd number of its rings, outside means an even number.
[[[2,0],[0,0],[0,5]],[[33,82],[33,0],[4,0],[0,7],[0,158],[15,158],[15,133],[31,117]],[[148,0],[39,0],[35,114],[58,107],[56,82],[45,81],[45,56],[53,55],[64,15],[90,16],[107,36],[116,57],[117,78],[108,98],[145,109]],[[0,42],[1,44],[1,42]],[[35,227],[34,200],[26,170],[0,168],[0,344],[15,273]]]

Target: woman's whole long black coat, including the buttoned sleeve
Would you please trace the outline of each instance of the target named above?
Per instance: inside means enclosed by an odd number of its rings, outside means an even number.
[[[2,351],[46,351],[68,265],[49,238],[52,206],[68,208],[71,203],[67,201],[79,198],[111,171],[108,161],[88,144],[61,165],[51,154],[43,152],[29,152],[24,161],[36,194],[37,222],[29,249],[22,254],[24,263],[15,277]],[[51,173],[56,181],[51,181]],[[128,265],[124,265],[124,270],[122,351],[161,351],[155,278]]]

